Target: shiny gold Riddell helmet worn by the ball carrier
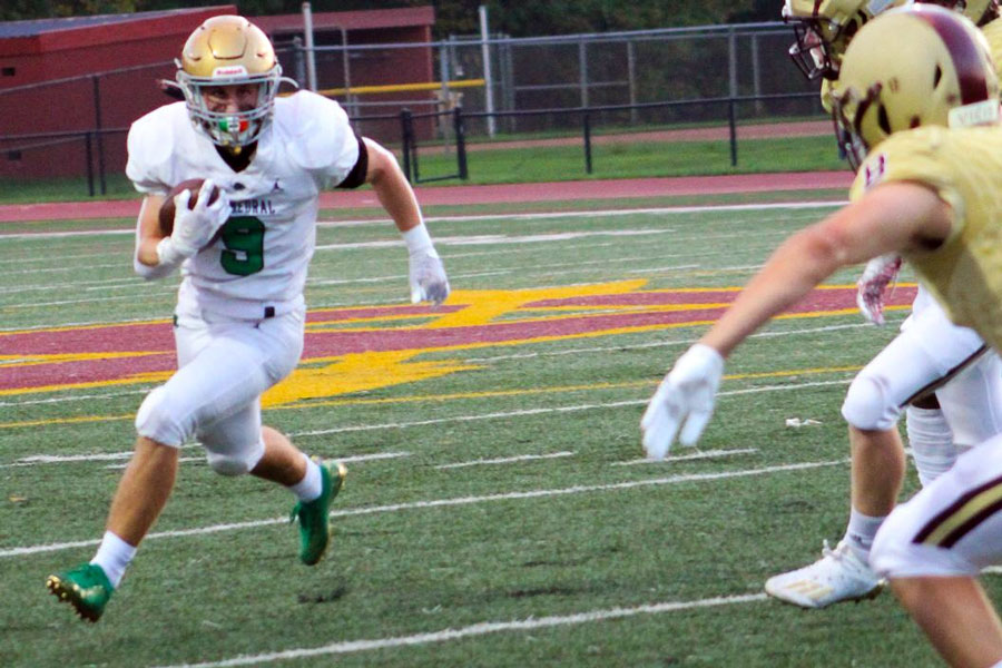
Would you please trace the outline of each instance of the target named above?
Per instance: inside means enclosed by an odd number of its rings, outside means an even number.
[[[272,42],[261,28],[243,17],[213,17],[195,29],[175,62],[177,84],[196,128],[213,144],[236,150],[257,140],[284,80]],[[204,90],[234,85],[257,86],[257,104],[237,111],[210,110]]]

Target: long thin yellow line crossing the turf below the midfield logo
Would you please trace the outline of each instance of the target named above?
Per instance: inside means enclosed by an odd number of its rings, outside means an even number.
[[[746,381],[755,379],[777,379],[799,375],[818,375],[825,373],[846,373],[859,371],[862,366],[831,366],[831,367],[812,367],[812,369],[793,369],[785,371],[766,371],[755,373],[738,373],[725,375],[725,381]],[[529,396],[533,394],[562,394],[571,392],[591,392],[600,390],[629,390],[636,387],[654,387],[656,382],[650,380],[627,381],[622,383],[593,383],[590,385],[563,385],[552,387],[531,387],[514,390],[491,390],[485,392],[456,392],[450,394],[412,394],[409,396],[393,396],[384,399],[365,399],[348,397],[335,399],[327,401],[311,401],[307,403],[275,405],[271,410],[304,410],[331,406],[365,406],[365,405],[386,405],[403,404],[419,402],[446,402],[446,401],[464,401],[471,399],[494,399],[499,396]],[[30,420],[22,422],[0,422],[0,429],[19,429],[27,426],[55,426],[60,424],[78,424],[92,422],[116,422],[122,420],[132,420],[134,414],[128,415],[91,415],[86,418],[55,418],[51,420]]]

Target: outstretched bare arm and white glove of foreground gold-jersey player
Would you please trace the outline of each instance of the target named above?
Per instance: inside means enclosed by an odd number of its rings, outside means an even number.
[[[770,317],[843,266],[884,253],[934,248],[950,235],[952,223],[950,206],[933,190],[890,183],[786,239],[661,381],[640,421],[647,455],[664,458],[679,430],[684,445],[696,443],[713,413],[724,358]]]

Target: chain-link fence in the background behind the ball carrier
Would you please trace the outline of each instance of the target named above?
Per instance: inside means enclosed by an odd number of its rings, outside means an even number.
[[[400,155],[407,143],[454,143],[456,108],[471,144],[580,134],[586,110],[597,134],[822,119],[817,82],[786,55],[792,40],[769,22],[278,51],[287,76],[305,88],[312,68],[357,131]],[[426,80],[397,80],[415,59]],[[89,190],[104,191],[106,173],[124,168],[129,122],[168,101],[157,80],[173,77],[163,62],[0,90],[0,118],[36,115],[31,131],[0,128],[0,176],[90,175]]]

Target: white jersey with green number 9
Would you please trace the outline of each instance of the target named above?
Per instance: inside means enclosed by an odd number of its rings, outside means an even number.
[[[180,310],[256,320],[303,307],[317,195],[344,180],[358,159],[337,102],[307,91],[276,99],[243,171],[195,128],[184,102],[134,122],[128,150],[126,174],[140,193],[166,195],[184,180],[212,178],[233,204],[217,238],[181,265]]]

